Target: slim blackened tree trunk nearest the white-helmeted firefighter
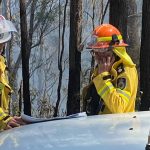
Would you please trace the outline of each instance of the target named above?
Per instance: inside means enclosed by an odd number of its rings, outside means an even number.
[[[29,45],[28,45],[27,16],[25,4],[26,0],[20,0],[23,100],[24,100],[24,113],[27,115],[31,115],[31,102],[29,90],[29,52],[28,52]]]

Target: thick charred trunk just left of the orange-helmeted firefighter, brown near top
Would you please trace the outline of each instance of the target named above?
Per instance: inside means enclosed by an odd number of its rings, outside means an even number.
[[[80,71],[82,1],[71,0],[70,3],[70,39],[69,39],[69,82],[67,115],[80,112]]]

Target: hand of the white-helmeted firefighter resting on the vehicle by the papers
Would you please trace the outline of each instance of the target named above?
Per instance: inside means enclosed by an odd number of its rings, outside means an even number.
[[[5,130],[19,127],[20,125],[25,125],[26,123],[21,119],[21,117],[14,116],[8,121]]]

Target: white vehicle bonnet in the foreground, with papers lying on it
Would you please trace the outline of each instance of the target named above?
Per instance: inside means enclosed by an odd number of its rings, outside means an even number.
[[[0,133],[0,150],[145,150],[150,112],[29,124]]]

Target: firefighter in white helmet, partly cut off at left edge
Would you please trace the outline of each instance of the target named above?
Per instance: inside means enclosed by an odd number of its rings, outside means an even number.
[[[13,23],[0,15],[0,131],[24,124],[20,117],[9,115],[9,96],[12,89],[7,78],[6,60],[3,49],[11,39],[11,32],[16,32]]]

